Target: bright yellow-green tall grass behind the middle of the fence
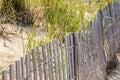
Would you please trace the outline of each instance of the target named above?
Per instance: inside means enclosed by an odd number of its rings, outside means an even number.
[[[63,37],[93,19],[98,9],[114,0],[40,0],[50,38]]]

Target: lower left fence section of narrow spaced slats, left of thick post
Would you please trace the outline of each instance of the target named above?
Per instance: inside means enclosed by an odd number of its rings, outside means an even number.
[[[64,59],[61,40],[53,40],[11,64],[2,72],[2,80],[65,80]]]

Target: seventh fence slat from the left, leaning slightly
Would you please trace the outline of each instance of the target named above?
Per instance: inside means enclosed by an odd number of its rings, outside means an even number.
[[[43,77],[42,77],[42,64],[41,64],[41,61],[40,61],[39,47],[36,47],[36,53],[37,53],[37,61],[38,61],[38,69],[39,69],[39,79],[43,80]]]

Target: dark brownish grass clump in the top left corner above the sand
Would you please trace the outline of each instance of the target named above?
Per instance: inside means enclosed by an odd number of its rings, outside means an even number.
[[[38,4],[38,0],[1,0],[2,23],[16,23],[20,25],[34,24],[31,7]]]

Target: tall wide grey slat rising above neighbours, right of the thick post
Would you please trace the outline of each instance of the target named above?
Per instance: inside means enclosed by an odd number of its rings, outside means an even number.
[[[95,32],[95,43],[96,43],[96,54],[98,58],[98,62],[96,63],[99,67],[96,66],[96,73],[99,72],[99,75],[97,75],[97,79],[105,80],[106,76],[106,57],[104,54],[104,40],[103,40],[103,23],[102,23],[102,12],[98,11],[97,13],[97,19],[96,19],[96,25],[94,26],[94,32]]]

